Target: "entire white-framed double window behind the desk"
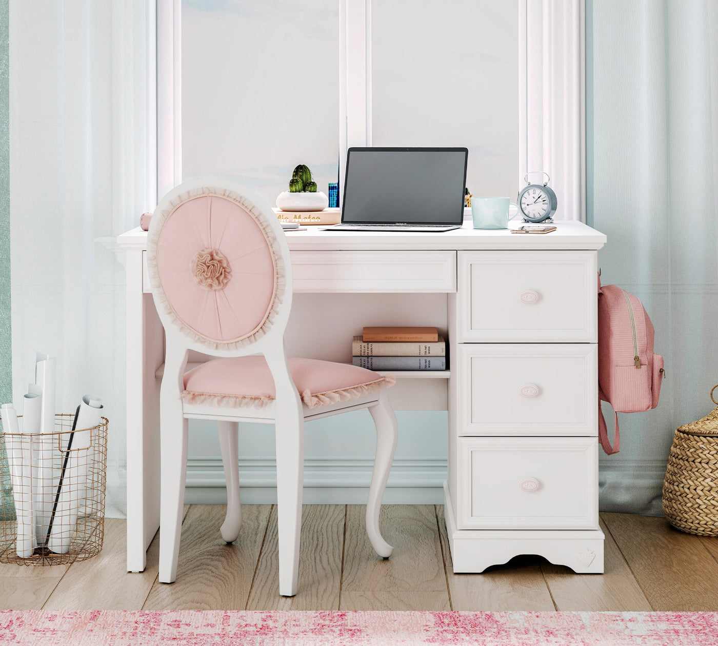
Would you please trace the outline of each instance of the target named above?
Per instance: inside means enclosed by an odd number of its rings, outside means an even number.
[[[273,203],[299,163],[326,190],[347,145],[466,145],[474,195],[541,170],[583,220],[582,6],[157,0],[158,191],[231,174]]]

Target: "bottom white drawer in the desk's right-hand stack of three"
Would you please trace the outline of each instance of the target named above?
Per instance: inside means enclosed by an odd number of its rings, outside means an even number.
[[[598,441],[462,438],[460,529],[597,529]]]

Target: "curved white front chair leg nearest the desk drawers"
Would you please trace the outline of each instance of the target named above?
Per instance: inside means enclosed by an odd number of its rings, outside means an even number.
[[[394,451],[396,451],[398,424],[386,390],[381,391],[379,403],[372,406],[369,412],[376,426],[376,457],[369,485],[369,500],[366,504],[366,533],[374,551],[383,558],[389,558],[394,548],[381,538],[379,510],[394,459]]]

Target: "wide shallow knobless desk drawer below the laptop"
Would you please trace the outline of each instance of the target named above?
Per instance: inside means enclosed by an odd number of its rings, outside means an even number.
[[[456,291],[456,251],[292,251],[294,291]]]

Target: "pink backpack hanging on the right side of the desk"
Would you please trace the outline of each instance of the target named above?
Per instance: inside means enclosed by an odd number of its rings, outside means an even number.
[[[598,439],[607,455],[620,449],[617,413],[658,406],[663,357],[653,352],[653,324],[633,294],[598,280]],[[615,440],[608,441],[601,401],[613,407]]]

